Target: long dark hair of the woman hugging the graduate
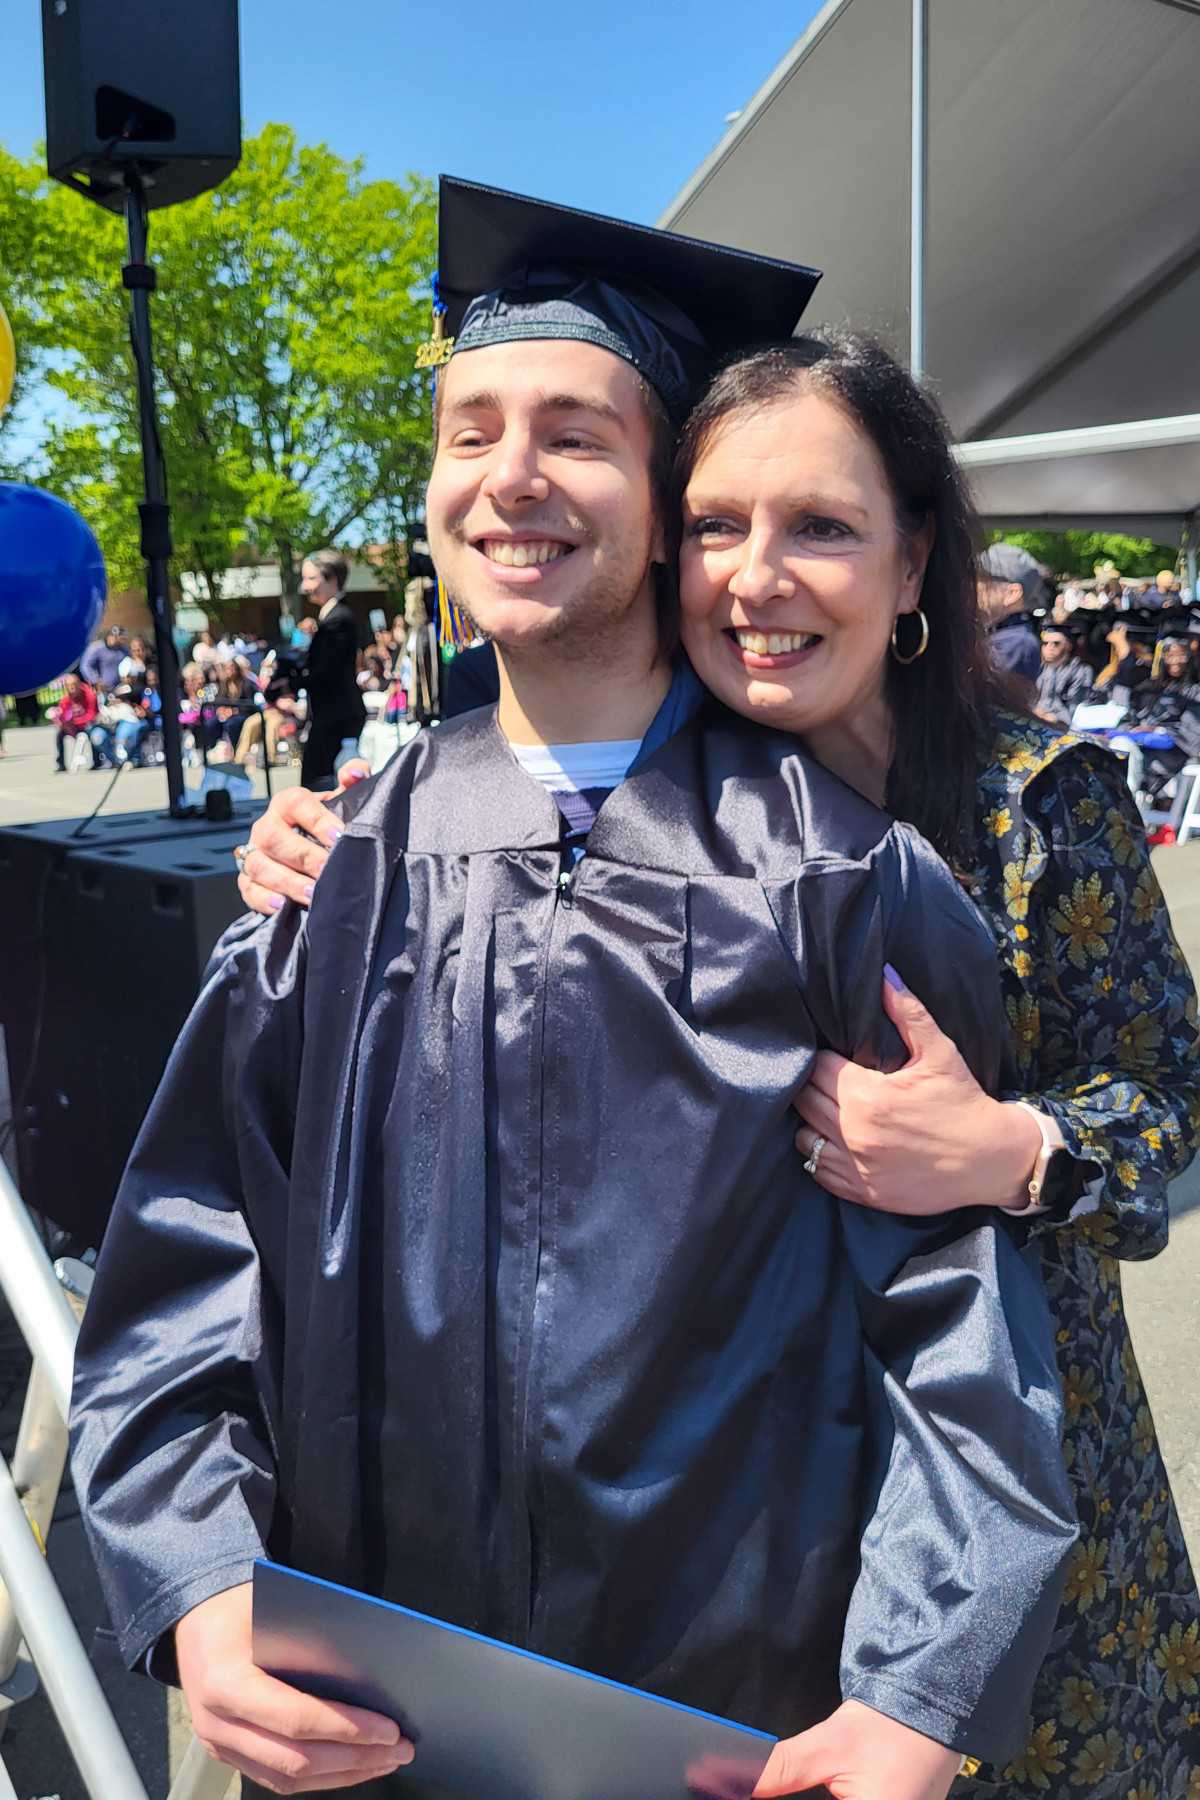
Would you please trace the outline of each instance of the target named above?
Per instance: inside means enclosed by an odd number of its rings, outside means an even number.
[[[667,520],[680,531],[684,490],[716,428],[739,412],[757,412],[795,392],[828,394],[867,434],[880,454],[900,531],[914,536],[934,524],[934,547],[921,587],[928,648],[914,662],[887,662],[894,720],[885,805],[930,841],[957,875],[973,862],[975,783],[993,734],[993,709],[1015,691],[988,655],[975,596],[977,518],[950,454],[946,423],[912,376],[871,338],[815,331],[727,364],[687,419]],[[678,540],[673,545],[678,554]],[[916,650],[916,619],[900,619],[901,653]],[[1016,700],[1016,704],[1020,704]]]

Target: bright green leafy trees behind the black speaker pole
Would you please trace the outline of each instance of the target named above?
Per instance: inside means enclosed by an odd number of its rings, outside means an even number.
[[[94,522],[113,580],[133,583],[140,455],[124,225],[34,176],[32,164],[0,158],[0,205],[7,182],[41,247],[20,297],[29,358],[68,403],[38,473]],[[216,193],[153,212],[149,241],[178,562],[216,610],[239,549],[275,554],[295,610],[309,551],[380,529],[403,542],[419,508],[430,185],[369,182],[360,162],[266,126]]]

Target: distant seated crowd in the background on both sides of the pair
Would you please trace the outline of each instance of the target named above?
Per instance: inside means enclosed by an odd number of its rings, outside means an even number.
[[[1200,758],[1200,608],[1178,578],[1126,581],[1110,563],[1096,578],[1054,583],[1015,544],[993,544],[979,563],[981,607],[993,657],[1009,670],[1038,718],[1067,729],[1083,706],[1112,704],[1106,729],[1130,754],[1132,785],[1150,801],[1184,763]],[[358,655],[358,688],[387,724],[426,725],[495,698],[489,646],[448,666],[430,621],[432,580],[408,583],[405,612],[374,630]],[[1191,596],[1187,596],[1191,599]],[[266,637],[200,632],[182,659],[180,725],[196,760],[243,767],[295,756],[306,731],[304,677],[315,619]],[[162,761],[162,695],[155,653],[121,626],[88,644],[49,713],[56,765],[85,736],[94,769]],[[1092,729],[1088,724],[1087,729]],[[1130,736],[1132,734],[1132,736]],[[1150,736],[1148,736],[1150,734]]]

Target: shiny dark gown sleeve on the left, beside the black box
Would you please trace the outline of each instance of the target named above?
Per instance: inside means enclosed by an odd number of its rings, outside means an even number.
[[[304,914],[239,922],[219,950],[133,1147],[76,1354],[72,1474],[130,1665],[193,1606],[250,1579],[275,1499],[264,1346],[277,1336]],[[162,1647],[151,1669],[169,1676]]]

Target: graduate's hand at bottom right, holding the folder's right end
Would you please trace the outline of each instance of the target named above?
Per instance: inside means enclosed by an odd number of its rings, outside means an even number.
[[[959,1773],[957,1750],[856,1699],[770,1753],[754,1800],[824,1787],[835,1800],[945,1800]]]

